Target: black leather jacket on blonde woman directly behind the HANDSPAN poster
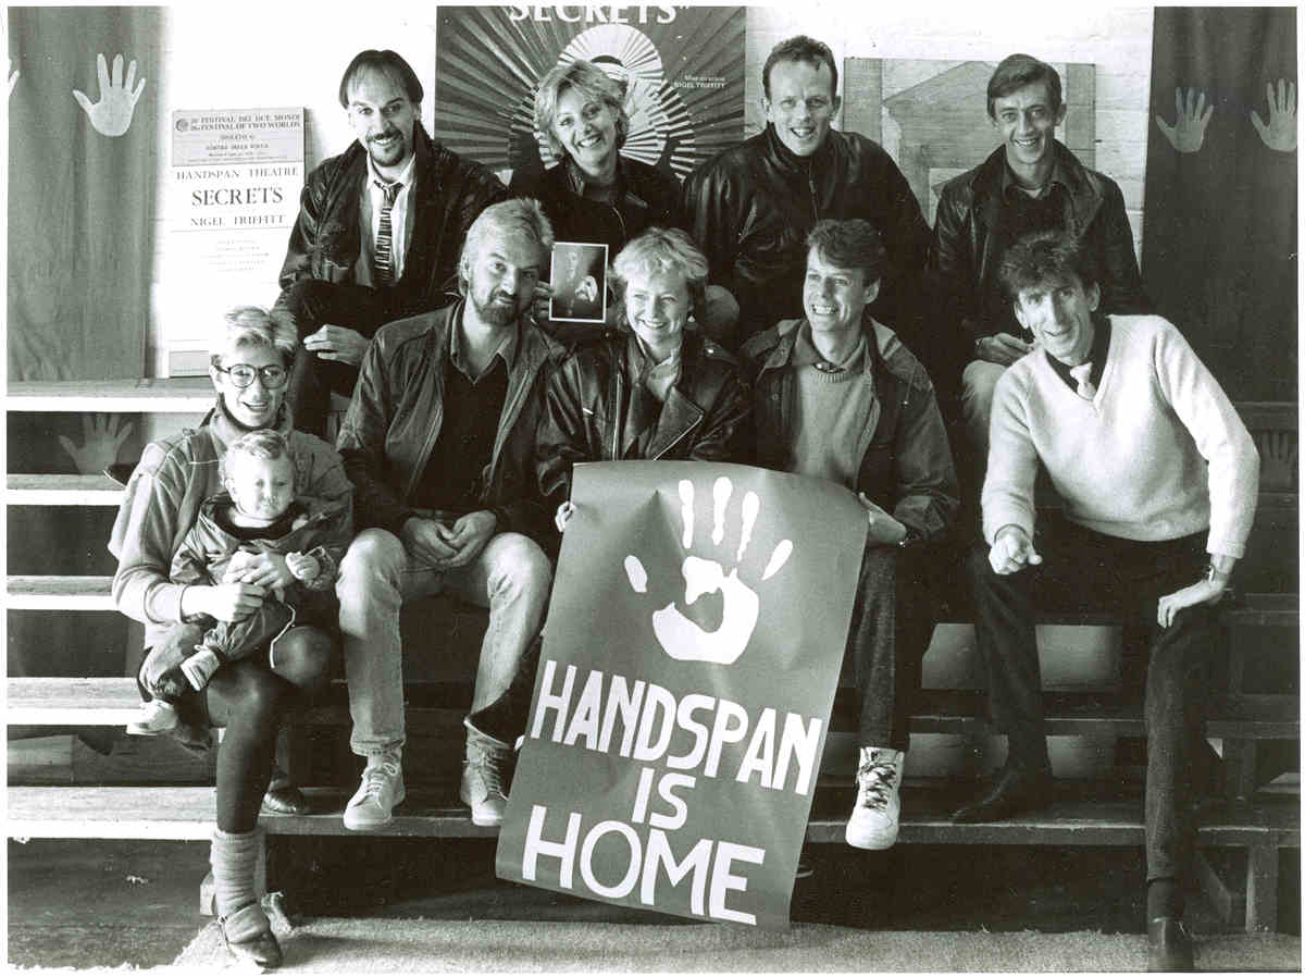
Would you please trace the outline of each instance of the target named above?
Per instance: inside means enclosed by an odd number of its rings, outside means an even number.
[[[686,330],[680,379],[659,404],[639,381],[646,358],[632,333],[608,332],[548,381],[539,427],[539,490],[549,512],[570,498],[577,461],[746,461],[752,402],[737,360]]]

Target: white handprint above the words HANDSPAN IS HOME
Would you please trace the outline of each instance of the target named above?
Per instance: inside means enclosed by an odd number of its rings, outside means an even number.
[[[652,611],[652,633],[656,635],[658,644],[668,656],[676,661],[705,661],[714,665],[732,665],[739,660],[752,640],[752,632],[757,627],[757,615],[761,611],[761,601],[757,593],[739,579],[739,563],[743,562],[748,545],[752,542],[752,530],[757,522],[757,513],[761,509],[761,500],[756,492],[746,492],[743,496],[740,509],[740,536],[739,549],[735,553],[735,568],[726,573],[716,560],[696,556],[689,550],[693,547],[693,482],[681,479],[680,490],[680,519],[684,530],[680,542],[684,546],[685,556],[680,567],[684,576],[684,602],[692,605],[707,593],[720,593],[723,610],[720,627],[715,631],[703,631],[698,624],[689,620],[675,606],[672,601],[666,607]],[[724,475],[718,478],[711,487],[713,500],[713,528],[711,542],[720,546],[726,536],[726,509],[729,498],[733,495],[733,483]],[[784,566],[793,553],[791,539],[780,539],[770,554],[766,568],[761,575],[762,580],[770,580]],[[647,571],[638,556],[625,558],[625,576],[630,581],[634,593],[647,593]]]

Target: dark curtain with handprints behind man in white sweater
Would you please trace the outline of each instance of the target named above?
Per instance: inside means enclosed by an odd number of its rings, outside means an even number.
[[[1279,80],[1297,80],[1295,8],[1156,9],[1142,277],[1235,400],[1297,396],[1296,103],[1274,111]]]

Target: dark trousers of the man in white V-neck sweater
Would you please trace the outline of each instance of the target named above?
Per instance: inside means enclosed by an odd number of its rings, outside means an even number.
[[[988,563],[987,543],[970,556],[993,718],[1007,734],[1015,764],[1047,764],[1036,610],[1108,611],[1147,628],[1148,882],[1185,876],[1194,841],[1193,760],[1216,648],[1216,610],[1211,605],[1188,607],[1161,628],[1156,603],[1201,577],[1208,560],[1205,546],[1205,533],[1137,542],[1057,520],[1035,538],[1040,566],[1001,576]]]

